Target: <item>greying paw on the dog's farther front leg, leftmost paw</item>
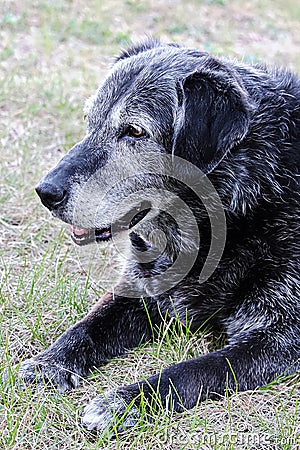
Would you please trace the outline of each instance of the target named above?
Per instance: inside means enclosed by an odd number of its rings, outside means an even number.
[[[39,357],[23,361],[16,375],[16,384],[21,388],[30,385],[37,390],[50,388],[59,393],[77,387],[80,381],[77,374],[59,363]]]

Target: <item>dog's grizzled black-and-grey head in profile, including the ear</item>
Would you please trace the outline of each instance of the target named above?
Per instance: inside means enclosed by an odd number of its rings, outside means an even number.
[[[56,217],[73,224],[75,242],[107,241],[112,224],[134,228],[168,201],[170,159],[212,172],[246,135],[250,110],[230,63],[157,41],[134,46],[87,102],[86,136],[37,193]]]

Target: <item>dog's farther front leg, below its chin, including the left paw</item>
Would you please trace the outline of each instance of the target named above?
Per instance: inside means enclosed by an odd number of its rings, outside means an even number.
[[[111,358],[149,340],[149,313],[139,299],[104,295],[91,312],[51,347],[21,363],[20,383],[64,392]]]

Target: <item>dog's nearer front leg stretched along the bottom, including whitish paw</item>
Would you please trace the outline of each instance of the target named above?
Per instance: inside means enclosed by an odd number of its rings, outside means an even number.
[[[90,430],[118,430],[132,426],[143,408],[182,412],[207,398],[217,399],[226,391],[244,391],[263,386],[281,374],[300,369],[299,340],[282,344],[290,336],[272,330],[241,336],[241,342],[198,359],[168,367],[145,381],[96,397],[85,408],[83,424]],[[148,406],[147,406],[148,405]]]

